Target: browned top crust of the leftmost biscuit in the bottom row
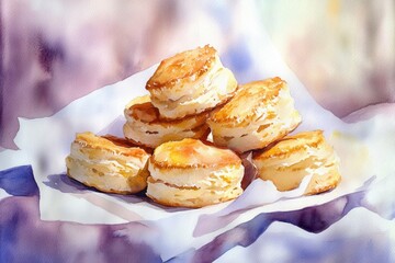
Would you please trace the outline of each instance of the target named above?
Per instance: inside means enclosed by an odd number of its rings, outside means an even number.
[[[77,134],[74,144],[78,144],[83,148],[104,150],[138,159],[143,159],[148,155],[145,150],[132,145],[125,139],[112,135],[97,136],[90,132]]]

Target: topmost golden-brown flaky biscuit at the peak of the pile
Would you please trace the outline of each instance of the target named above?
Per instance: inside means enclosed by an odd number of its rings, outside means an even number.
[[[237,81],[217,52],[206,45],[162,60],[146,89],[160,115],[177,119],[225,103]]]

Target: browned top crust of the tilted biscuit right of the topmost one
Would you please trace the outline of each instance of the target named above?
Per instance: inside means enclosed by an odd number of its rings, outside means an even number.
[[[279,77],[240,85],[235,96],[219,111],[215,112],[210,117],[210,121],[222,124],[232,123],[234,125],[253,121],[253,117],[263,114],[262,108],[274,104],[272,101],[279,96],[282,89],[286,88],[286,82]]]

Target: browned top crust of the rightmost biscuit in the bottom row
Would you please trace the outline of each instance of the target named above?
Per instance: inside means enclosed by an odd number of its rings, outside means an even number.
[[[305,151],[308,148],[318,148],[325,141],[324,133],[320,129],[312,132],[303,132],[296,135],[286,136],[279,142],[269,146],[269,149],[257,151],[253,155],[256,160],[264,160],[270,158],[287,158],[297,151]]]

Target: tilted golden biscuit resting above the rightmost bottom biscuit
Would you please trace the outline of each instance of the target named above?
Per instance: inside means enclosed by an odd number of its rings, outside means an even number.
[[[207,123],[216,145],[245,152],[284,137],[301,121],[286,82],[276,77],[241,85]]]

